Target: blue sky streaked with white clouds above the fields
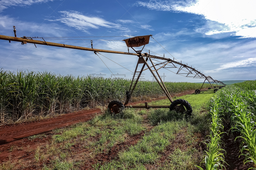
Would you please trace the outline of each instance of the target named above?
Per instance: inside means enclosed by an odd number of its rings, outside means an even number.
[[[93,40],[93,48],[125,52],[120,40],[126,38],[117,36],[152,34],[175,59],[213,79],[252,80],[256,79],[255,9],[253,0],[0,0],[0,34],[14,36],[12,26],[16,26],[17,37],[80,37],[83,40],[46,41],[91,48]],[[145,48],[172,58],[154,39]],[[91,51],[36,47],[0,40],[0,68],[74,76],[101,73],[106,78],[118,73],[116,77],[132,78],[128,70],[134,71],[137,63],[136,56],[101,53],[126,70]],[[204,81],[167,70],[160,75],[166,76],[165,81]],[[152,80],[150,72],[143,76]]]

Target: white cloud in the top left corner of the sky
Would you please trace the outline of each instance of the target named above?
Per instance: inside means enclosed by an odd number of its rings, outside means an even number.
[[[0,1],[0,12],[10,6],[22,6],[26,7],[36,3],[45,3],[53,0],[1,0]]]

